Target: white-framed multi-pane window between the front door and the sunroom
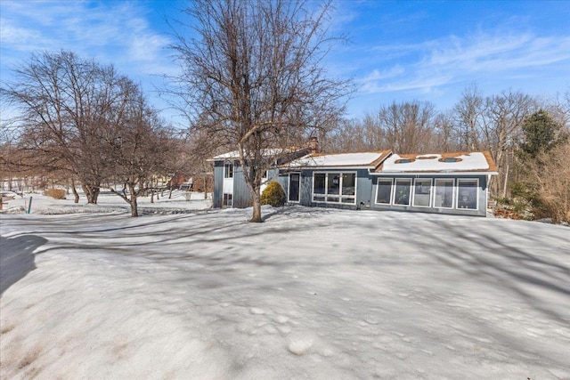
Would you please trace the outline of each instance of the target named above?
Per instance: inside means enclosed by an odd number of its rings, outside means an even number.
[[[313,201],[329,203],[356,203],[356,174],[315,173]]]

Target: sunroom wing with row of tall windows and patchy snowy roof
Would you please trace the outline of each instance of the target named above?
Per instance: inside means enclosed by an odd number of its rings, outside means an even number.
[[[486,152],[393,155],[373,173],[372,208],[485,216],[494,174]]]

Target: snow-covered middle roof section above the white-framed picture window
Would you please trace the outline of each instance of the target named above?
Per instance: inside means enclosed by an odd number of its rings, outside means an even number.
[[[298,158],[289,166],[296,167],[339,167],[368,166],[376,167],[390,154],[390,150],[360,153],[312,154]]]

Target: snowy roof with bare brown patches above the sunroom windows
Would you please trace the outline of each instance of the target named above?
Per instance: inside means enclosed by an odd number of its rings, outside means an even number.
[[[394,154],[387,158],[376,174],[410,172],[496,172],[489,152],[436,154]]]

